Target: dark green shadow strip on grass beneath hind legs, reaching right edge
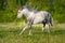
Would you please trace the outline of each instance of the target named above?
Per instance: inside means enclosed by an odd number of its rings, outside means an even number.
[[[51,33],[48,33],[48,31],[46,32],[42,32],[42,31],[37,31],[37,32],[34,32],[34,34],[51,34],[51,35],[58,35],[58,34],[65,34],[65,30],[54,30],[54,31],[51,31]]]

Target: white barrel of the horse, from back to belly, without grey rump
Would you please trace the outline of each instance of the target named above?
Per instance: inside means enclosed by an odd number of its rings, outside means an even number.
[[[42,23],[44,20],[46,15],[47,15],[47,12],[43,12],[43,11],[36,13],[34,24]]]

